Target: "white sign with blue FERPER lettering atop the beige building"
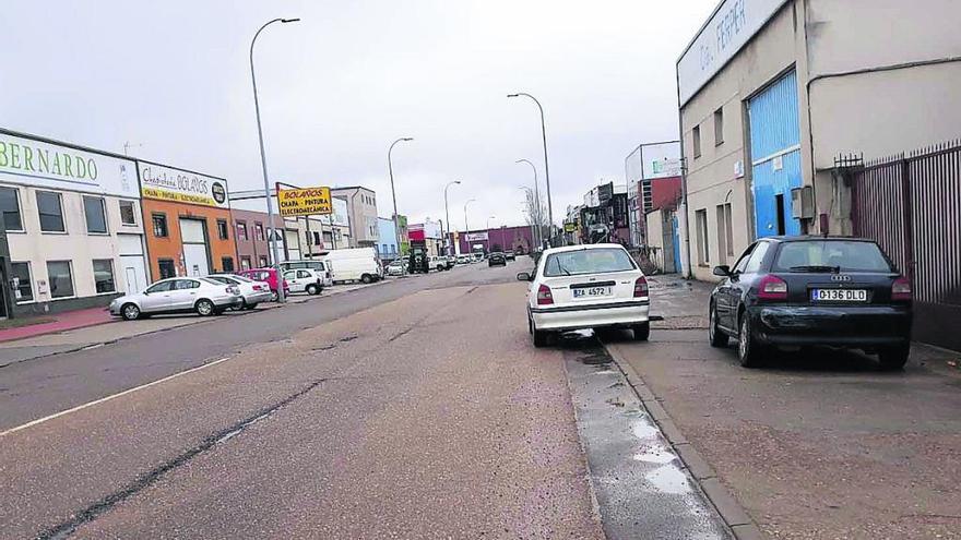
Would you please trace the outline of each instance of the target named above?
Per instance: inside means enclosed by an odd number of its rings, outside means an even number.
[[[786,0],[724,0],[677,61],[684,107],[784,5]]]

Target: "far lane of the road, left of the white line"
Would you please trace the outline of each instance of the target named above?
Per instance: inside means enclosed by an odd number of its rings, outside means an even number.
[[[482,272],[487,267],[477,264],[391,279],[284,309],[215,317],[100,348],[11,363],[0,368],[0,432],[422,290],[503,283],[525,265],[530,259],[521,257],[510,271]]]

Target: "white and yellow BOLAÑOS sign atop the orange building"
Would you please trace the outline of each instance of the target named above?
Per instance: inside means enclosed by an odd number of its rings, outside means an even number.
[[[228,208],[227,181],[199,172],[138,161],[144,199]]]

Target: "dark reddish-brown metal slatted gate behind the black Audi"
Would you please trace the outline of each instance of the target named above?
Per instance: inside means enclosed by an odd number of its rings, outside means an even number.
[[[961,350],[961,141],[850,175],[854,233],[911,277],[914,338]]]

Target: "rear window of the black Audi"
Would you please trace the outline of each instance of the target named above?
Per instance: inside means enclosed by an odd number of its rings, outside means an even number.
[[[781,245],[774,272],[891,272],[891,265],[874,242],[804,241]]]

